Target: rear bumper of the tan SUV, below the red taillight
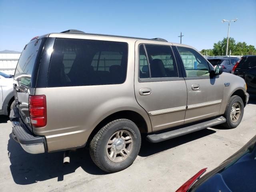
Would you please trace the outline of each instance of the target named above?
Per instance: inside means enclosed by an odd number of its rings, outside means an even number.
[[[34,135],[20,119],[18,108],[10,112],[12,122],[12,138],[20,143],[22,148],[30,154],[46,152],[46,140],[44,136]]]

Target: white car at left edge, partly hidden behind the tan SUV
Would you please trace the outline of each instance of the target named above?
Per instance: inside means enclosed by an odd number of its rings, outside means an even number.
[[[9,115],[15,104],[12,84],[12,76],[0,72],[0,115]]]

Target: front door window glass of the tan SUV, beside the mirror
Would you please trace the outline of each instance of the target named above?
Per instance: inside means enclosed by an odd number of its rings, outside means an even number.
[[[184,64],[187,77],[210,76],[208,62],[195,50],[177,47]]]

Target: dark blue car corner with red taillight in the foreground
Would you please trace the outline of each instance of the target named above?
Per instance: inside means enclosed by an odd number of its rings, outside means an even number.
[[[256,191],[256,136],[214,170],[200,170],[176,192]],[[200,178],[200,176],[202,176]]]

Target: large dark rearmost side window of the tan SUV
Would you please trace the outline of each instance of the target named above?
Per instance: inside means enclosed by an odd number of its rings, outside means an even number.
[[[122,84],[126,79],[128,44],[57,38],[48,87]]]

